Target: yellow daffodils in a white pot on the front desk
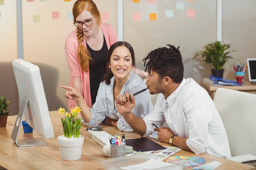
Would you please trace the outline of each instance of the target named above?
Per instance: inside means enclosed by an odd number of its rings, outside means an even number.
[[[61,117],[64,135],[57,137],[63,160],[79,160],[81,158],[84,137],[80,135],[81,119],[77,120],[77,113],[80,112],[80,107],[71,109],[70,113],[65,112],[64,108],[59,109],[59,113],[65,116],[64,118]]]

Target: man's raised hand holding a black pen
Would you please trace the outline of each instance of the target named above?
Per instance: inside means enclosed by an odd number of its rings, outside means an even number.
[[[117,103],[117,110],[122,116],[130,113],[131,110],[135,107],[134,96],[131,95],[130,97],[129,92],[126,92],[125,95],[116,96],[115,102]]]

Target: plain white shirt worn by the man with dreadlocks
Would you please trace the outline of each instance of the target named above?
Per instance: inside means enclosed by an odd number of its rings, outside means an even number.
[[[143,118],[147,137],[154,131],[152,123],[168,127],[179,137],[187,138],[187,146],[196,154],[230,158],[228,137],[221,117],[208,92],[192,78],[184,79],[179,87],[164,99],[159,94],[152,112]]]

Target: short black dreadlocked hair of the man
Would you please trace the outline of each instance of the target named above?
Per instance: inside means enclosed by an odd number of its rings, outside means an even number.
[[[168,44],[167,44],[168,45]],[[143,59],[145,71],[155,71],[159,79],[169,76],[174,83],[181,83],[184,76],[184,67],[179,48],[168,45],[170,48],[162,47],[152,50]],[[148,60],[148,61],[147,61]]]

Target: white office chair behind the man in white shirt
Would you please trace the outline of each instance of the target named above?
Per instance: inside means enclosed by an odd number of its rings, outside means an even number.
[[[218,88],[214,104],[228,135],[229,159],[256,167],[256,95]]]

